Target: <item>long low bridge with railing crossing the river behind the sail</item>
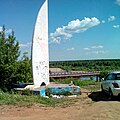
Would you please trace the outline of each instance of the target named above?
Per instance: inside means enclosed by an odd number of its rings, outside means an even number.
[[[63,78],[68,78],[68,77],[73,77],[73,78],[83,78],[83,77],[96,77],[96,80],[99,79],[100,72],[99,71],[71,71],[71,72],[51,72],[50,77],[54,79],[63,79]]]

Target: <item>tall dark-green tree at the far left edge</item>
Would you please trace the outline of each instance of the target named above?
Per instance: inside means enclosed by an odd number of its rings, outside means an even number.
[[[15,77],[16,64],[20,56],[19,43],[14,32],[6,36],[5,27],[0,32],[0,88],[10,89],[10,84]]]

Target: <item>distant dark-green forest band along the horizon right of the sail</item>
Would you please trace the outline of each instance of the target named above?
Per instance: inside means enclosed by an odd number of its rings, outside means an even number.
[[[50,67],[67,71],[113,71],[120,70],[120,59],[51,61]]]

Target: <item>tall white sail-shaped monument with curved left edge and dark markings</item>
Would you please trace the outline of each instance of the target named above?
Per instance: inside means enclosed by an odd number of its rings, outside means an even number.
[[[32,43],[32,70],[35,86],[49,84],[48,0],[43,3],[35,24]]]

